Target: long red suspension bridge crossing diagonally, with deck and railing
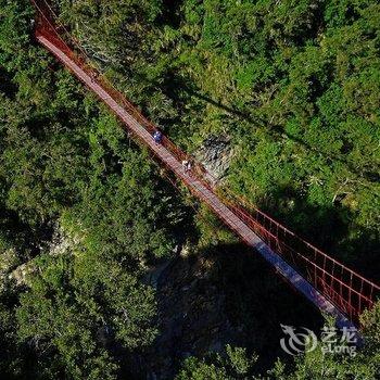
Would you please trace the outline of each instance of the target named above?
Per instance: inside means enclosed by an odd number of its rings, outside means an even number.
[[[230,192],[227,197],[220,195],[220,189],[216,189],[202,165],[195,163],[191,173],[183,170],[181,163],[188,159],[187,154],[166,137],[162,144],[156,144],[152,134],[157,128],[90,64],[86,52],[60,23],[49,3],[31,1],[38,11],[36,38],[39,43],[107,104],[123,126],[148,147],[162,165],[322,313],[334,316],[341,327],[358,325],[362,312],[371,308],[380,296],[378,284],[328,256],[257,207],[250,205],[248,212]]]

